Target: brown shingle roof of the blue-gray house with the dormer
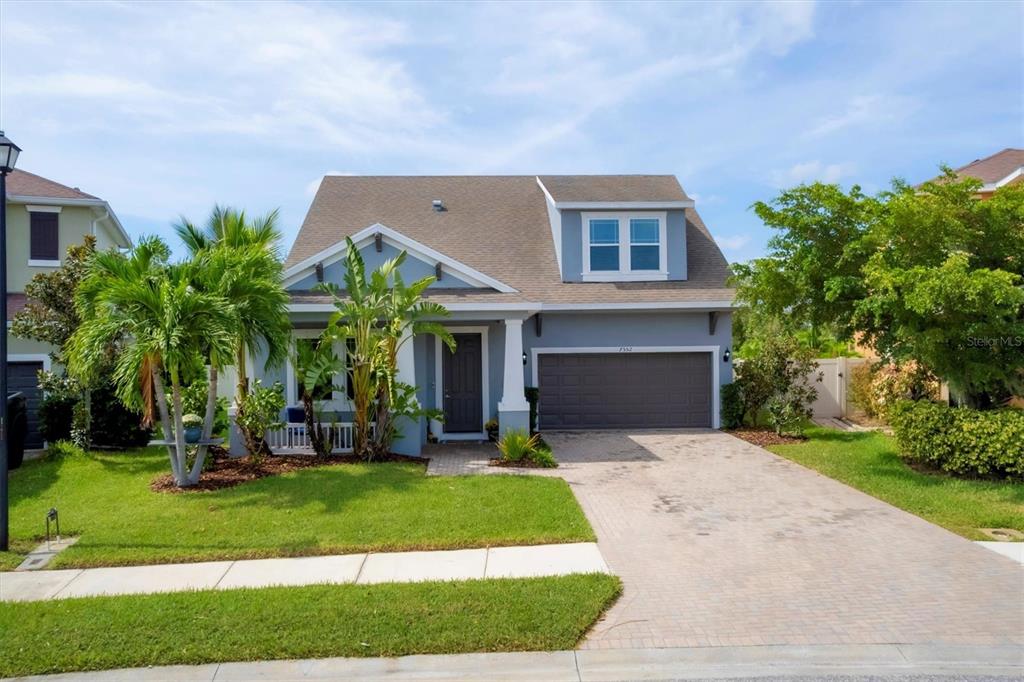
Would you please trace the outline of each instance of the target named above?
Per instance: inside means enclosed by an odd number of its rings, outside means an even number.
[[[556,201],[680,201],[674,176],[543,176]],[[550,182],[550,184],[549,184]],[[557,194],[556,194],[557,193]],[[439,199],[445,210],[433,211]],[[537,176],[327,176],[286,266],[381,223],[544,303],[731,300],[728,263],[693,209],[685,209],[684,282],[563,283]]]

